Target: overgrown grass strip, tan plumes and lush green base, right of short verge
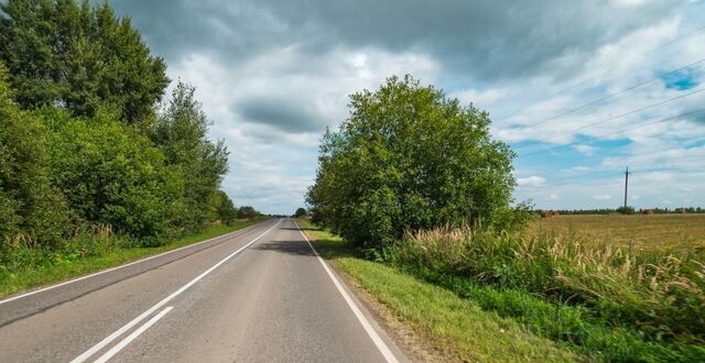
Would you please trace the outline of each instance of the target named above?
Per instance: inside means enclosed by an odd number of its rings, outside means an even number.
[[[696,252],[445,228],[408,235],[390,255],[395,268],[595,360],[705,359],[705,266]]]

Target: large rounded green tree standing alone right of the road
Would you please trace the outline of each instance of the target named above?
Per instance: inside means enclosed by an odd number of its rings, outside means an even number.
[[[350,109],[323,138],[306,199],[347,241],[380,248],[404,230],[516,221],[514,154],[491,139],[487,112],[411,76],[351,95]]]

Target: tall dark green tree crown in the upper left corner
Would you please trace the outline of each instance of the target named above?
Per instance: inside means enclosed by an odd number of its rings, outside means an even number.
[[[9,0],[0,9],[0,59],[23,108],[61,106],[86,117],[112,108],[128,123],[153,113],[169,85],[166,65],[107,2]]]

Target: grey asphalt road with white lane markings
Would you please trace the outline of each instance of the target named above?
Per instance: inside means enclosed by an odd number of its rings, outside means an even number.
[[[406,361],[291,219],[0,301],[0,362]]]

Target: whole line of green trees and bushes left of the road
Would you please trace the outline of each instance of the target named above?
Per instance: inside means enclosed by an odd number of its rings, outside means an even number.
[[[194,87],[169,102],[163,58],[107,4],[0,6],[0,237],[58,249],[78,230],[156,245],[237,210],[228,150],[208,139]],[[6,243],[7,244],[7,243]]]

